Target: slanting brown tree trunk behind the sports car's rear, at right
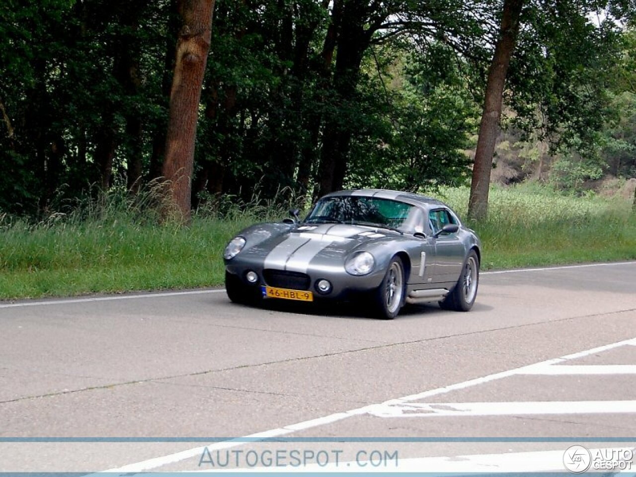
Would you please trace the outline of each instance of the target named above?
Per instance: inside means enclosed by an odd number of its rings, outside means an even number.
[[[472,219],[484,219],[488,214],[490,170],[495,153],[495,141],[499,134],[504,85],[510,59],[515,50],[523,3],[524,0],[504,0],[499,39],[497,39],[495,54],[488,69],[479,139],[473,165],[471,195],[468,202],[468,216]]]

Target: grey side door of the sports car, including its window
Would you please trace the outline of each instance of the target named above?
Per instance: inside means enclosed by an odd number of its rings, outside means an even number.
[[[429,211],[429,227],[433,234],[448,224],[457,224],[457,219],[448,209],[440,207]],[[442,232],[431,240],[435,248],[432,283],[456,282],[464,265],[464,244],[458,233]]]

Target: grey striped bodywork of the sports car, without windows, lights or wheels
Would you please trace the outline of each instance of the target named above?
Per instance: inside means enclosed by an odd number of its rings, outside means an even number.
[[[405,268],[406,301],[441,300],[457,284],[469,251],[481,257],[481,244],[473,230],[462,225],[448,205],[430,197],[391,190],[350,190],[325,197],[358,195],[397,200],[417,207],[421,223],[403,233],[385,228],[348,224],[261,223],[242,230],[245,246],[237,256],[225,260],[226,272],[236,275],[245,286],[276,286],[266,282],[263,270],[307,274],[308,289],[317,298],[348,298],[352,294],[377,289],[387,266],[399,256]],[[448,211],[459,230],[434,237],[429,212]],[[350,275],[345,261],[356,252],[370,252],[375,258],[368,275]],[[245,274],[258,274],[258,282],[249,284]],[[328,294],[315,287],[318,280],[332,284]]]

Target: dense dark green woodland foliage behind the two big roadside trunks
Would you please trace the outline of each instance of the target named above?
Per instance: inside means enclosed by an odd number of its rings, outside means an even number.
[[[636,49],[612,22],[630,10],[601,3],[607,20],[526,4],[506,102],[520,130],[633,176]],[[492,0],[218,0],[193,203],[466,183],[500,15]],[[5,0],[0,18],[0,212],[161,175],[177,0]]]

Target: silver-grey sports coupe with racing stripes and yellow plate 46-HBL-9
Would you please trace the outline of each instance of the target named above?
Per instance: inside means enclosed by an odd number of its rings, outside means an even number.
[[[481,244],[450,207],[391,190],[322,197],[304,220],[252,225],[225,249],[230,300],[362,300],[392,319],[404,303],[468,311]]]

